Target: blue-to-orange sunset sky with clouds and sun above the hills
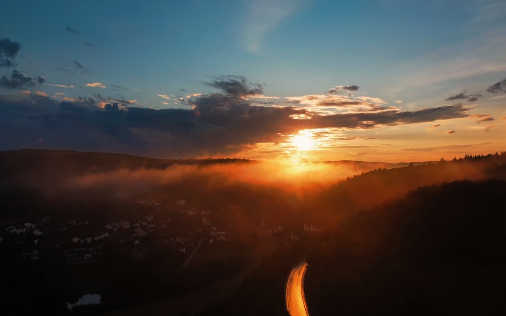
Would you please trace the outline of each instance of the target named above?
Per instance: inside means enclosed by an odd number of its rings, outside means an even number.
[[[506,151],[501,0],[3,9],[0,150],[292,162]]]

